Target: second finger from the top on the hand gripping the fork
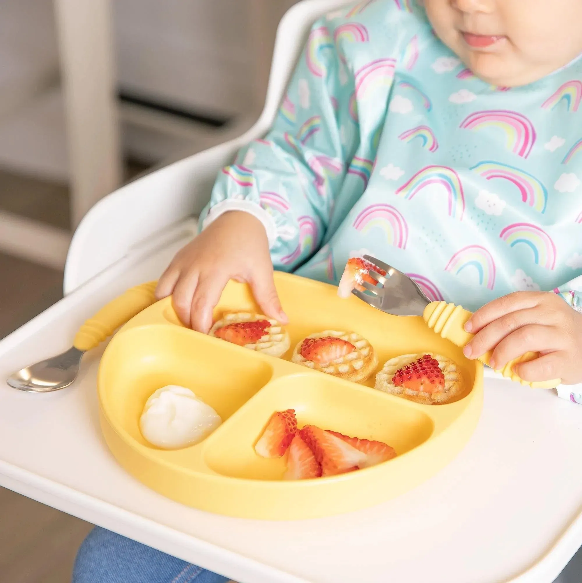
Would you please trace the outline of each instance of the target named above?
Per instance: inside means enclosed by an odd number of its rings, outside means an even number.
[[[476,313],[476,312],[475,312]],[[528,324],[551,325],[552,318],[549,312],[537,308],[518,310],[505,314],[481,328],[463,350],[465,356],[476,359],[489,350],[492,350],[510,333]]]

